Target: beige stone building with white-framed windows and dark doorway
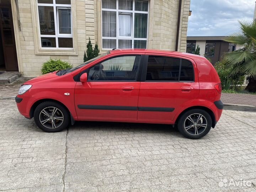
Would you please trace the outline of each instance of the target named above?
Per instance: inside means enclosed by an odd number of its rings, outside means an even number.
[[[186,52],[190,0],[0,0],[0,69],[41,74],[58,58],[83,63],[86,43]]]

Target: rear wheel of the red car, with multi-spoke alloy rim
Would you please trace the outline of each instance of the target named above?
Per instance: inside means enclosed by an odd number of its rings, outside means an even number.
[[[178,130],[184,137],[189,139],[204,137],[209,133],[211,127],[212,118],[208,112],[201,109],[189,110],[183,113],[178,120]]]

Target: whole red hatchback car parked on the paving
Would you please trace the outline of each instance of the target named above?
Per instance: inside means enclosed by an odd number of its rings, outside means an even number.
[[[25,82],[17,107],[46,132],[75,121],[172,124],[187,138],[219,121],[220,79],[204,57],[162,50],[112,50],[75,68]]]

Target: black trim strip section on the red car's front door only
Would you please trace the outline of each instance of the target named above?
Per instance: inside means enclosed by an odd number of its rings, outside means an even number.
[[[78,108],[79,109],[92,109],[92,110],[137,111],[137,107],[132,107],[132,106],[78,105]]]

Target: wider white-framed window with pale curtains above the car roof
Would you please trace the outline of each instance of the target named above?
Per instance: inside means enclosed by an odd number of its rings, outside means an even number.
[[[102,49],[146,48],[147,0],[102,0]]]

